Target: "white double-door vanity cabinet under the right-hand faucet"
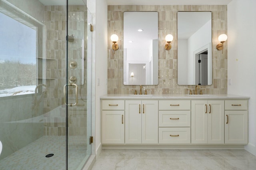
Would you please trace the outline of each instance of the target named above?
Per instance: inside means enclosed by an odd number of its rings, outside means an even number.
[[[224,100],[191,101],[191,143],[224,144]]]

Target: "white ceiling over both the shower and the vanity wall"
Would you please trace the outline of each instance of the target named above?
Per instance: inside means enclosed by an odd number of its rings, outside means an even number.
[[[39,0],[44,5],[65,5],[66,0]],[[84,5],[86,0],[69,0]],[[227,5],[232,0],[106,0],[108,5]]]

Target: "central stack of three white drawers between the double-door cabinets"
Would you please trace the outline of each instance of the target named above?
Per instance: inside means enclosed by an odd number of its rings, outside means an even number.
[[[159,101],[159,144],[190,144],[190,100]]]

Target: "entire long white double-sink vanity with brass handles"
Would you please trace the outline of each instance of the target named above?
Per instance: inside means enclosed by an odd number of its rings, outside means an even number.
[[[242,148],[248,99],[234,95],[105,95],[102,146]]]

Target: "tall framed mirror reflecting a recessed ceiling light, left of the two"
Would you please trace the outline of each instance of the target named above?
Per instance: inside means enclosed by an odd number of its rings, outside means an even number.
[[[124,12],[124,85],[158,84],[158,12]]]

